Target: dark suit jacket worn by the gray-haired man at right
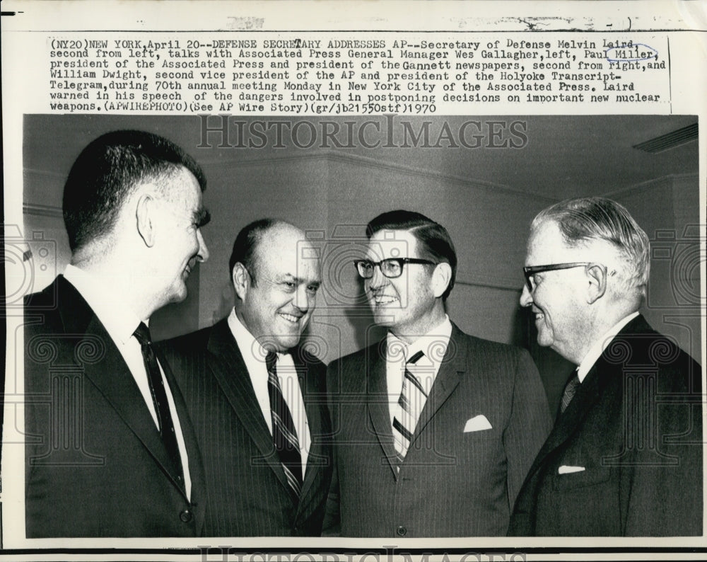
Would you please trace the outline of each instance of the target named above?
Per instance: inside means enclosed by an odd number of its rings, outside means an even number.
[[[643,316],[630,321],[557,420],[509,534],[702,534],[700,393],[699,365]]]

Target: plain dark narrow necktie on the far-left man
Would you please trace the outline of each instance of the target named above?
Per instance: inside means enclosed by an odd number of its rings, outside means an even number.
[[[155,405],[155,411],[157,412],[157,419],[160,426],[160,436],[172,461],[173,469],[175,470],[175,479],[184,486],[184,471],[182,470],[182,457],[180,456],[179,446],[177,445],[177,434],[175,433],[175,426],[172,421],[172,414],[170,413],[170,405],[167,401],[165,383],[162,379],[160,366],[157,363],[157,357],[155,357],[155,352],[152,349],[150,330],[141,322],[135,330],[134,336],[140,342],[142,359],[145,362],[147,380],[150,384],[150,394],[152,394],[152,401]]]

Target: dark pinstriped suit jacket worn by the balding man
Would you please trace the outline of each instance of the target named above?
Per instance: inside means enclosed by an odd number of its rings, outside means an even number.
[[[318,537],[332,475],[325,365],[302,348],[291,351],[312,437],[297,502],[228,321],[164,345],[204,454],[204,535]]]

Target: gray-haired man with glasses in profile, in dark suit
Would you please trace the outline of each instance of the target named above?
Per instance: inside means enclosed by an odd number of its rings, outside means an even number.
[[[509,534],[702,534],[701,369],[638,314],[648,236],[618,203],[535,217],[520,303],[578,365],[515,503]]]

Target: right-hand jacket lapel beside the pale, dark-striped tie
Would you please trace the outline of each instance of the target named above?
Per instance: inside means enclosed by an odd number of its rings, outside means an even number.
[[[443,403],[447,401],[450,394],[457,388],[461,374],[467,369],[467,338],[462,332],[452,324],[452,336],[447,351],[440,364],[439,371],[435,377],[435,382],[432,385],[430,396],[428,396],[425,407],[422,408],[420,418],[415,426],[415,432],[412,436],[412,443],[419,437],[421,432],[426,428],[427,424],[434,417]]]

